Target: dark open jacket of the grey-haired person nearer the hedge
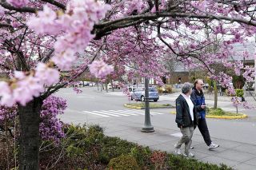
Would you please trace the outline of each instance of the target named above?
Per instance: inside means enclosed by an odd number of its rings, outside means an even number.
[[[192,101],[192,100],[191,100]],[[190,116],[190,106],[187,104],[186,99],[181,95],[178,96],[176,99],[176,123],[178,125],[178,128],[190,127],[198,125],[198,114],[197,112],[202,110],[201,105],[195,106],[194,101],[192,101],[194,104],[194,122],[192,121],[192,118]]]

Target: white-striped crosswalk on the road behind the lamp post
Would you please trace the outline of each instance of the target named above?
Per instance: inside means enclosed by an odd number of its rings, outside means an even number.
[[[130,116],[144,116],[144,110],[94,110],[82,111],[82,114],[93,115],[96,117],[130,117]],[[164,113],[150,112],[150,115],[162,115]]]

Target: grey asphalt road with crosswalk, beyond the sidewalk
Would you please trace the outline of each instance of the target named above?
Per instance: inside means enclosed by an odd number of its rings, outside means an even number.
[[[123,105],[128,101],[126,96],[113,95],[114,93],[100,92],[95,87],[82,88],[83,92],[76,94],[73,89],[60,89],[56,94],[67,100],[68,108],[61,116],[62,121],[74,124],[97,124],[102,126],[135,124],[138,127],[144,123],[143,110],[127,109]],[[173,97],[160,97],[158,102],[174,104]],[[210,101],[208,101],[210,103]],[[219,102],[219,105],[232,109],[228,102]],[[151,122],[155,130],[166,128],[178,130],[174,119],[175,115],[170,114],[174,109],[151,109]],[[242,110],[250,117],[245,120],[216,120],[207,119],[210,135],[213,140],[233,140],[245,144],[256,144],[256,111]],[[198,130],[195,134],[199,134]]]

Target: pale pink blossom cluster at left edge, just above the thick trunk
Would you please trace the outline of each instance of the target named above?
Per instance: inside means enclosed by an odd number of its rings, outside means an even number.
[[[0,81],[0,104],[8,107],[16,103],[26,105],[33,97],[44,92],[44,85],[52,85],[58,81],[58,71],[52,65],[44,63],[38,63],[37,68],[28,73],[15,71],[10,82]]]

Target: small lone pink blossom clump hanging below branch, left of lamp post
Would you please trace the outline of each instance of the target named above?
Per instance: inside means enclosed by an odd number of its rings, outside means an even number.
[[[97,78],[106,77],[106,75],[114,71],[114,67],[112,65],[107,65],[102,60],[93,61],[93,63],[89,65],[89,69],[90,73],[94,74]]]

